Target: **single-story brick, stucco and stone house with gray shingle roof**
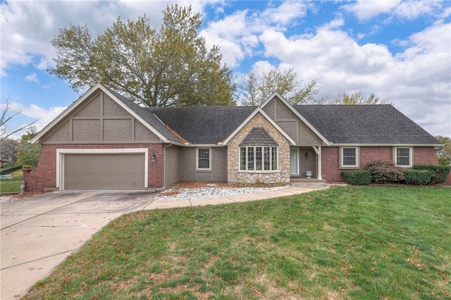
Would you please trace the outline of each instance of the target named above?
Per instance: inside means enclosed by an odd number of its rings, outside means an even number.
[[[95,85],[32,139],[26,189],[156,189],[183,181],[342,181],[392,161],[437,164],[434,137],[391,105],[143,108]],[[307,174],[307,171],[309,173]]]

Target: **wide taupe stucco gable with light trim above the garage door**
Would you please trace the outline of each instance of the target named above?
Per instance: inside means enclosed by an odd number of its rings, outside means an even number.
[[[159,122],[154,115],[152,117],[155,123]],[[163,124],[161,127],[166,130]],[[176,138],[173,140],[179,142]],[[168,142],[168,138],[125,105],[110,89],[98,84],[44,127],[32,142]]]

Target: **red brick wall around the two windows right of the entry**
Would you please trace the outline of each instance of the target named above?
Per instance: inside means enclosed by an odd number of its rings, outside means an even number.
[[[414,147],[414,165],[437,165],[434,147]],[[376,161],[394,162],[393,147],[359,147],[360,168]],[[328,182],[344,181],[340,173],[340,147],[322,147],[322,175]],[[449,177],[448,177],[449,179]]]

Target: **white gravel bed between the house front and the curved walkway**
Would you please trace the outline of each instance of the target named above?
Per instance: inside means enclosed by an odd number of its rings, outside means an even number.
[[[226,196],[236,196],[244,194],[257,194],[261,192],[276,191],[284,187],[197,187],[194,189],[178,189],[178,194],[164,196],[164,193],[173,192],[173,189],[167,189],[156,200],[181,200],[181,199],[199,199],[216,198]]]

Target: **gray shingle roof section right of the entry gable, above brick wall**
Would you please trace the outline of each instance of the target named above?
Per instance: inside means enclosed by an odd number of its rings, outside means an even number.
[[[391,105],[295,105],[334,144],[440,144]]]

